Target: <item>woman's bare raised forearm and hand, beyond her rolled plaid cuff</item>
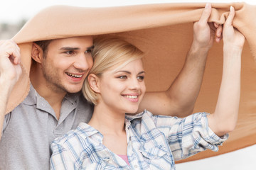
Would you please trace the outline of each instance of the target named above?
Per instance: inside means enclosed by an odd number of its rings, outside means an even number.
[[[241,54],[245,37],[233,28],[235,10],[230,13],[223,28],[223,77],[217,105],[208,115],[208,125],[216,135],[222,136],[235,129],[240,102]]]

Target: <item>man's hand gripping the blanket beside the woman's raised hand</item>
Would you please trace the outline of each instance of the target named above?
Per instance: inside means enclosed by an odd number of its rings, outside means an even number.
[[[211,5],[206,4],[200,20],[193,25],[193,45],[206,50],[213,46],[214,40],[220,42],[222,33],[222,26],[217,23],[208,23],[210,13]]]

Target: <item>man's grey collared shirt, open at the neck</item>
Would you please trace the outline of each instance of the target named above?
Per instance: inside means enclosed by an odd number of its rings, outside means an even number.
[[[50,143],[92,117],[93,106],[81,93],[67,94],[56,119],[53,108],[36,90],[7,114],[0,141],[0,169],[50,169]]]

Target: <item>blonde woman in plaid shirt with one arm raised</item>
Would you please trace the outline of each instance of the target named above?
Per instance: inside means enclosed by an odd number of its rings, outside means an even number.
[[[96,40],[94,65],[83,86],[85,98],[95,104],[92,119],[53,142],[51,169],[175,169],[174,160],[217,151],[238,117],[245,38],[232,26],[234,15],[230,8],[223,28],[223,79],[212,114],[131,114],[146,91],[143,52],[124,40]]]

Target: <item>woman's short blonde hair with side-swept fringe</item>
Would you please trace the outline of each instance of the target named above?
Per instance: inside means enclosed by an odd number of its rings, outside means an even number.
[[[94,40],[94,45],[92,50],[94,63],[89,74],[95,74],[97,77],[101,77],[103,72],[113,66],[119,65],[117,67],[119,69],[129,62],[141,59],[144,55],[144,52],[137,47],[120,38],[97,38]],[[82,94],[87,101],[96,105],[97,93],[91,89],[87,78],[82,86]]]

